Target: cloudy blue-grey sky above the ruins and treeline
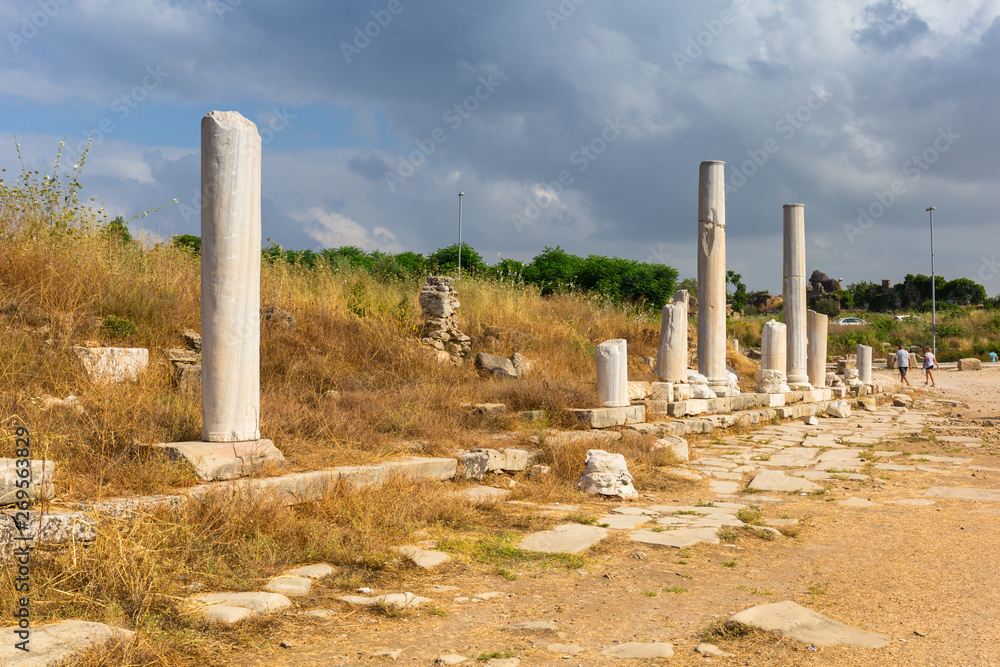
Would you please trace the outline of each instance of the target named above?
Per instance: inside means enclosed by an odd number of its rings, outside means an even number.
[[[199,234],[199,128],[257,123],[264,236],[489,263],[545,246],[694,275],[698,164],[724,160],[728,264],[935,269],[1000,292],[1000,0],[0,0],[0,166],[94,133],[88,196]],[[71,166],[71,160],[64,162]]]

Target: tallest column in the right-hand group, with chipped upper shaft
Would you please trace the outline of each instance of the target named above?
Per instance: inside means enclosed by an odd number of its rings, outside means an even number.
[[[724,165],[702,162],[698,174],[698,372],[719,396],[729,393]]]

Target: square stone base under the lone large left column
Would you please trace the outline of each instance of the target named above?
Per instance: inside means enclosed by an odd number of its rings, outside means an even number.
[[[283,465],[285,457],[270,440],[243,442],[168,442],[153,445],[174,461],[184,461],[199,479],[247,477],[264,464]]]

